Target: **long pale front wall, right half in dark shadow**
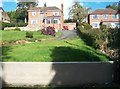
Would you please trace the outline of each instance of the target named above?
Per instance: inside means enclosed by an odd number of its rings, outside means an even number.
[[[3,62],[3,81],[12,85],[110,83],[113,62]]]

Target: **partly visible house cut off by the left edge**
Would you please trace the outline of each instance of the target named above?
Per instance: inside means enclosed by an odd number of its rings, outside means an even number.
[[[10,23],[10,17],[8,14],[0,7],[0,21],[5,23]]]

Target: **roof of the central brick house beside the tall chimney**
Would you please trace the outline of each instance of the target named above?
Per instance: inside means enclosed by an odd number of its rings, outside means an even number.
[[[30,10],[38,10],[41,12],[46,12],[48,10],[60,10],[60,9],[56,6],[51,6],[51,7],[32,7],[28,11],[30,11]]]

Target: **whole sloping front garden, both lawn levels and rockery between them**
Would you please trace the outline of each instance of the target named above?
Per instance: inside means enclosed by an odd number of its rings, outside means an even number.
[[[26,31],[1,31],[3,62],[81,62],[109,61],[110,58],[86,44],[81,38],[57,40],[56,37],[32,32],[33,38],[26,37]]]

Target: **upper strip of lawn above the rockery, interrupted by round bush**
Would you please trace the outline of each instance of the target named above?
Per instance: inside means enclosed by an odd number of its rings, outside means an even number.
[[[0,37],[2,37],[3,42],[11,42],[17,40],[26,39],[26,31],[1,31],[0,30]],[[2,36],[1,36],[2,35]],[[41,39],[41,38],[52,38],[52,36],[45,36],[40,34],[40,32],[33,32],[34,39]]]

